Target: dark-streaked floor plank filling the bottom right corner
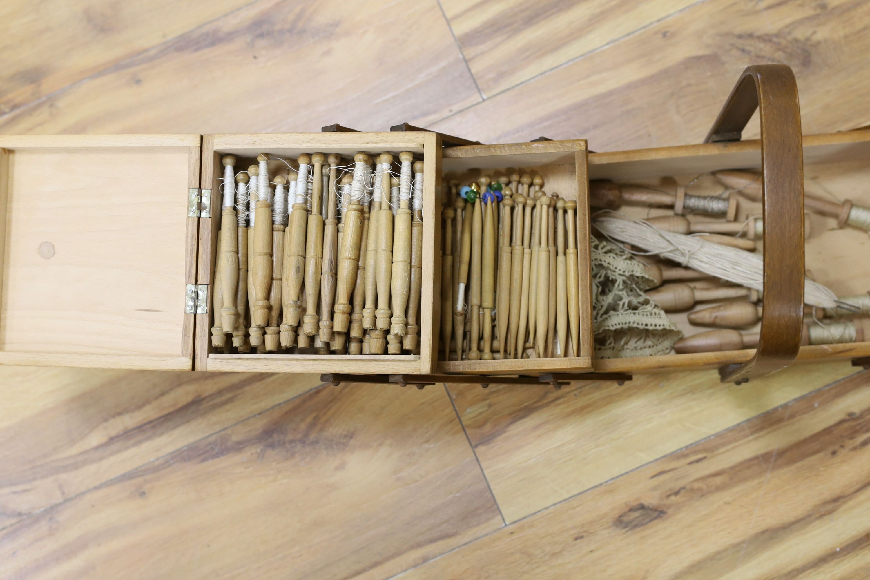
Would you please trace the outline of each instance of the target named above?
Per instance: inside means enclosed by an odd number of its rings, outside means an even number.
[[[867,380],[818,390],[402,578],[867,577]]]

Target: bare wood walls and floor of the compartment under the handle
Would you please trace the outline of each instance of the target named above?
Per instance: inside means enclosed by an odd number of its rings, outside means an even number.
[[[803,138],[805,192],[830,199],[852,199],[870,205],[870,130],[854,130]],[[592,153],[589,156],[590,179],[612,179],[620,183],[655,185],[663,177],[675,177],[686,184],[699,177],[695,187],[713,183],[709,172],[761,167],[759,141],[705,143],[648,150]],[[620,211],[635,218],[667,215],[669,210],[625,206]],[[761,215],[760,203],[740,197],[740,212]],[[836,219],[808,212],[810,229],[806,234],[806,276],[826,285],[837,296],[850,296],[870,290],[870,237],[866,231],[838,228]],[[693,219],[690,217],[690,219]],[[709,219],[702,217],[701,219]],[[761,245],[761,244],[760,244]],[[699,303],[692,310],[711,306]],[[692,311],[690,310],[690,311]],[[688,323],[688,312],[668,313],[686,336],[708,330]],[[758,331],[760,323],[745,330]],[[743,363],[754,350],[732,350],[694,354],[671,354],[659,357],[599,359],[595,370],[602,372],[638,372],[686,368],[718,368],[729,363]],[[870,343],[820,344],[800,348],[798,362],[832,358],[867,357]]]

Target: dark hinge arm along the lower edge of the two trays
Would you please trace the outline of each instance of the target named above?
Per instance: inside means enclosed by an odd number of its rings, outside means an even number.
[[[428,384],[479,384],[486,389],[491,384],[550,384],[556,389],[574,382],[589,381],[615,381],[623,384],[631,381],[631,375],[622,373],[546,373],[537,377],[501,377],[497,375],[480,377],[477,375],[346,375],[342,373],[327,373],[320,375],[324,383],[338,385],[340,383],[374,383],[374,384],[398,384],[406,386],[412,384],[418,389],[423,389]]]

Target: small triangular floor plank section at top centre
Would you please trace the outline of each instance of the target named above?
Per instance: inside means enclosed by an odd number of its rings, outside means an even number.
[[[695,0],[442,0],[485,97],[642,29]]]

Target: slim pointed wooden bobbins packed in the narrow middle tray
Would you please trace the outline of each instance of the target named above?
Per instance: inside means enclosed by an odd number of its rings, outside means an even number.
[[[577,203],[508,170],[449,183],[442,212],[445,360],[579,352]]]

